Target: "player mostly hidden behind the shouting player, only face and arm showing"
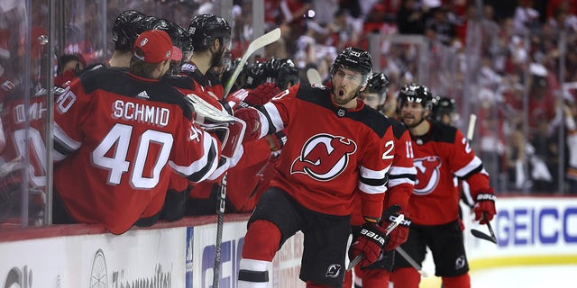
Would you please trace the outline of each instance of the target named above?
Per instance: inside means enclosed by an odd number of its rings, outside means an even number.
[[[389,78],[384,73],[372,73],[369,76],[367,87],[359,95],[359,99],[362,99],[372,109],[378,110],[386,99],[388,91]],[[413,166],[412,143],[407,127],[402,122],[396,121],[393,125],[393,134],[395,136],[395,157],[389,170],[388,191],[385,202],[383,202],[383,211],[388,211],[389,207],[398,205],[401,208],[400,212],[405,214],[405,220],[389,234],[389,242],[376,263],[367,267],[354,266],[354,284],[364,288],[389,287],[389,273],[392,271],[395,257],[398,257],[395,255],[394,249],[408,238],[410,219],[406,209],[408,197],[413,193],[417,169]],[[355,210],[351,220],[353,238],[357,237],[362,225],[362,216],[357,211],[359,210]],[[393,220],[389,219],[390,216],[395,217],[396,215],[383,214],[382,220]],[[343,287],[351,287],[351,282],[352,273],[347,272]]]

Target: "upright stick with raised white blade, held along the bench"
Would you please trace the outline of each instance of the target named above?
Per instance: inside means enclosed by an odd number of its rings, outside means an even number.
[[[231,92],[233,84],[241,71],[243,70],[244,63],[251,57],[252,53],[256,50],[261,49],[272,42],[280,39],[280,28],[276,28],[261,37],[252,40],[249,47],[244,51],[243,58],[238,63],[238,66],[234,69],[233,75],[228,79],[226,85],[224,85],[223,102],[226,101],[226,96]],[[220,265],[221,265],[221,255],[223,246],[223,229],[224,229],[224,207],[226,206],[226,172],[224,172],[223,178],[220,182],[218,193],[218,208],[216,209],[216,215],[218,220],[216,220],[216,241],[215,241],[215,266],[213,270],[213,288],[218,288],[218,282],[220,281]]]

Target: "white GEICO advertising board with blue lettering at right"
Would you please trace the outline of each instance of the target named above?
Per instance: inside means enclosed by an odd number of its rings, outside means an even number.
[[[466,234],[472,257],[577,256],[577,198],[500,197],[496,206],[498,245]],[[471,228],[489,234],[486,225]]]

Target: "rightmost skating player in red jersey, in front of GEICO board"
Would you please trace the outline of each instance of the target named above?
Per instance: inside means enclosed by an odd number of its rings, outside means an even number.
[[[433,96],[428,87],[410,83],[398,94],[398,115],[413,141],[417,181],[408,200],[412,224],[408,240],[401,245],[422,264],[426,247],[433,252],[435,275],[445,288],[471,287],[469,265],[459,225],[459,190],[456,176],[471,185],[475,220],[481,224],[495,215],[495,193],[481,159],[475,156],[463,133],[427,119]],[[395,259],[391,280],[396,288],[417,288],[421,276],[405,259]]]

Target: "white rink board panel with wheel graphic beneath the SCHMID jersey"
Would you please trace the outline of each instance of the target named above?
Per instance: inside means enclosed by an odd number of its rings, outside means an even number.
[[[131,230],[0,243],[0,284],[33,287],[184,287],[185,229]]]

